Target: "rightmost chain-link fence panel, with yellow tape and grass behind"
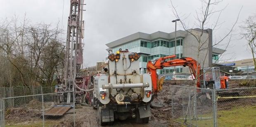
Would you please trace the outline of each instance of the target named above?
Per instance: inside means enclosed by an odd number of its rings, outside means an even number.
[[[256,88],[216,90],[219,127],[256,126]]]

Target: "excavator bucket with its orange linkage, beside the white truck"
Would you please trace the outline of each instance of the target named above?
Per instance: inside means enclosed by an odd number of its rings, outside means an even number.
[[[158,87],[158,90],[162,90],[163,88],[163,83],[164,83],[164,79],[165,79],[165,76],[162,76],[161,79],[158,81],[157,83],[157,87]],[[158,108],[162,108],[164,107],[164,104],[157,98],[157,92],[154,93],[154,95],[152,96],[152,101],[150,103],[150,106],[154,109],[158,109]]]

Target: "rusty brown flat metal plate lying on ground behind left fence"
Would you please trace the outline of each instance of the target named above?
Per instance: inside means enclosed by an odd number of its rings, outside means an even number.
[[[62,116],[71,109],[71,106],[55,106],[47,110],[44,115]]]

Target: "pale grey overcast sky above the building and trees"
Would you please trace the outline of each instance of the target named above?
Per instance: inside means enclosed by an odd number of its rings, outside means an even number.
[[[62,21],[63,0],[0,0],[0,18],[11,18],[14,14],[20,18],[26,16],[31,23],[50,23],[56,25]],[[85,0],[85,47],[84,66],[94,66],[107,55],[105,44],[126,37],[135,32],[153,33],[156,31],[173,32],[175,19],[170,0]],[[178,13],[189,16],[185,22],[192,24],[195,10],[201,6],[200,0],[173,0]],[[213,39],[218,41],[235,23],[239,9],[243,6],[234,33],[239,33],[248,16],[256,14],[256,0],[224,0],[215,9],[222,9],[221,26],[213,31]],[[64,0],[63,30],[66,33],[67,17],[69,16],[70,0]],[[209,25],[216,21],[211,17]],[[190,25],[191,28],[195,26]],[[177,30],[183,30],[180,23]],[[64,35],[63,37],[66,37]],[[232,44],[223,55],[223,60],[241,60],[252,58],[246,40],[236,35]],[[220,46],[219,48],[224,48]]]

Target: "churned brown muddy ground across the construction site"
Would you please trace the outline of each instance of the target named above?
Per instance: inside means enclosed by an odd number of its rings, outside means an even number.
[[[242,81],[242,80],[230,80],[230,88],[246,88],[255,85],[255,81]],[[180,127],[176,122],[173,122],[172,119],[172,92],[170,85],[190,85],[194,86],[194,81],[165,81],[163,85],[163,90],[158,93],[158,98],[165,105],[164,108],[161,109],[151,109],[152,117],[149,118],[148,124],[137,124],[132,119],[128,119],[125,121],[115,121],[114,125],[107,125],[105,127]],[[249,91],[249,90],[248,90]],[[250,94],[256,94],[256,91],[248,91],[240,90],[239,93],[243,96],[247,96]],[[175,91],[175,94],[178,94],[180,91]],[[174,100],[173,100],[174,101]],[[221,101],[221,100],[219,100]],[[178,103],[175,103],[178,104]],[[231,109],[233,106],[245,106],[245,105],[255,105],[256,100],[251,99],[231,99],[231,100],[222,100],[221,103],[218,103],[218,110],[227,110]],[[38,106],[37,106],[38,105]],[[7,115],[7,122],[14,122],[19,125],[19,122],[37,122],[41,121],[40,111],[36,111],[36,109],[40,109],[40,103],[35,101],[31,101],[27,104],[28,107],[36,107],[27,108],[27,109],[19,109],[13,108],[9,109]],[[57,120],[52,120],[51,126],[53,127],[72,127],[73,125],[73,109],[70,109],[66,115]],[[81,106],[75,109],[76,115],[76,127],[100,127],[98,125],[97,120],[97,110],[92,109],[91,106]],[[175,111],[180,112],[180,111]],[[26,119],[20,119],[21,117]]]

